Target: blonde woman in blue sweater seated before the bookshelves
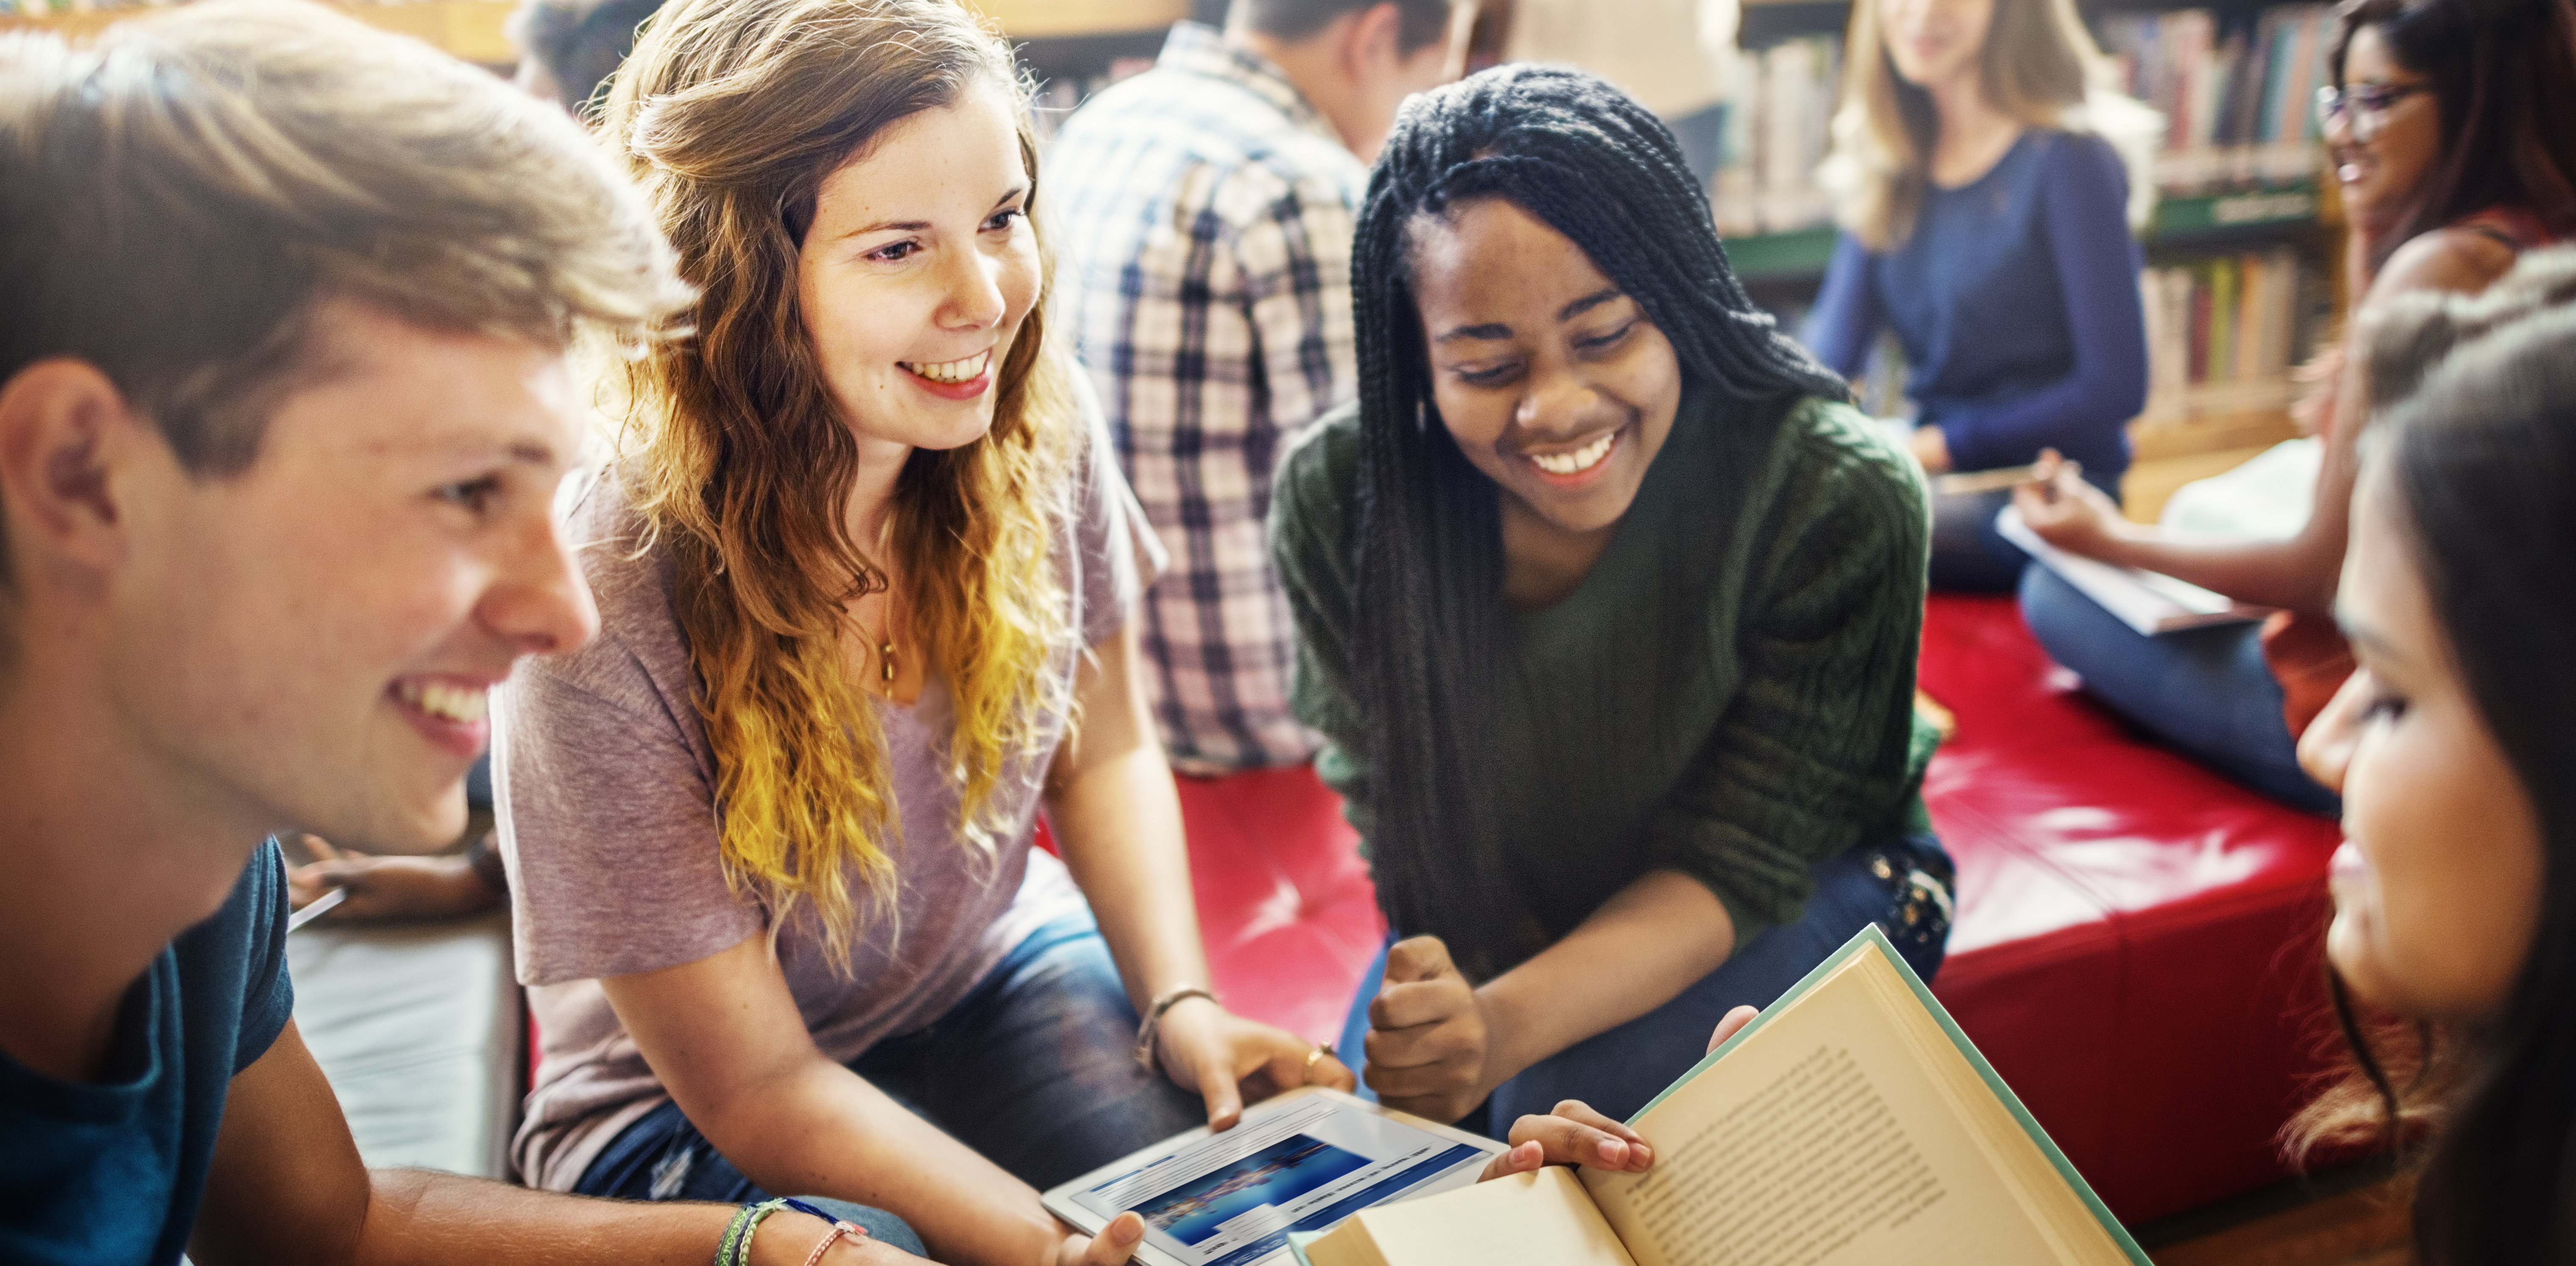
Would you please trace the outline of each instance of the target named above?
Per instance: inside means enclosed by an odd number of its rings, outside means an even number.
[[[1893,329],[1924,471],[2056,448],[2117,497],[2146,407],[2138,242],[2148,185],[2105,139],[2154,113],[2089,90],[2102,51],[2071,0],[1860,0],[1824,178],[1842,239],[1806,342],[1855,378]],[[1932,587],[2007,592],[2004,491],[1940,497]]]

